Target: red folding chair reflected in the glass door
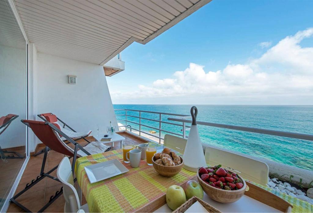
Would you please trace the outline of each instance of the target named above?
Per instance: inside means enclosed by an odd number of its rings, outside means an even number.
[[[9,125],[12,123],[12,121],[14,119],[16,119],[17,117],[18,117],[18,115],[16,115],[16,114],[8,114],[7,116],[3,116],[0,118],[0,135],[9,127]],[[5,154],[9,154],[9,155],[5,155]],[[17,155],[17,157],[14,156],[14,154]],[[24,158],[23,156],[21,156],[17,152],[7,151],[5,149],[2,149],[1,146],[0,146],[0,155],[1,155],[2,160]]]

